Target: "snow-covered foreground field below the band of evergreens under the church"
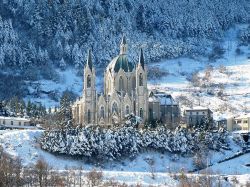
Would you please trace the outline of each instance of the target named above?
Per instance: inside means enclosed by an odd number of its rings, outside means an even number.
[[[104,172],[105,179],[125,181],[128,184],[159,184],[163,186],[168,184],[169,186],[175,186],[177,182],[170,177],[171,174],[178,174],[181,170],[188,172],[194,169],[192,164],[193,158],[177,157],[173,159],[173,155],[171,154],[157,152],[142,153],[134,160],[110,162],[95,166],[94,164],[86,163],[84,160],[73,160],[69,157],[55,156],[41,150],[37,140],[42,132],[41,130],[0,131],[0,145],[12,157],[21,158],[22,164],[25,166],[34,164],[39,158],[42,158],[56,170],[65,170],[66,168],[79,169],[82,167],[86,172],[97,167]],[[250,179],[250,167],[247,166],[250,164],[250,154],[217,164],[218,161],[224,160],[241,151],[241,147],[234,142],[231,142],[231,145],[231,151],[210,152],[209,164],[214,165],[209,167],[209,171],[211,174],[222,176],[239,175],[238,177],[242,177],[244,183],[247,177]],[[149,160],[154,160],[154,164],[149,165]],[[155,179],[152,178],[152,172],[156,176]]]

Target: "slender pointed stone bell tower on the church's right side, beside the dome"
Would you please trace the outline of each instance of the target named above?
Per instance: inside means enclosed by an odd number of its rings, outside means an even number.
[[[148,119],[147,67],[142,49],[136,67],[136,115],[140,116],[143,122]]]

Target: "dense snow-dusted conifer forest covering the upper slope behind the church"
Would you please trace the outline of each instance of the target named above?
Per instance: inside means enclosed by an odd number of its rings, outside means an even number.
[[[11,0],[1,4],[0,40],[4,42],[0,48],[9,50],[3,51],[2,58],[10,60],[5,61],[7,64],[20,66],[47,66],[49,59],[57,66],[60,62],[62,66],[64,62],[81,66],[90,44],[94,44],[97,63],[107,62],[117,52],[110,46],[117,46],[122,33],[131,33],[129,38],[135,44],[132,47],[145,44],[152,59],[199,53],[199,48],[205,52],[209,44],[202,38],[219,38],[233,24],[250,19],[246,0]],[[15,28],[21,28],[24,37],[19,37]],[[199,42],[195,42],[197,38]],[[11,47],[5,46],[8,43]],[[135,57],[133,51],[131,55]]]

